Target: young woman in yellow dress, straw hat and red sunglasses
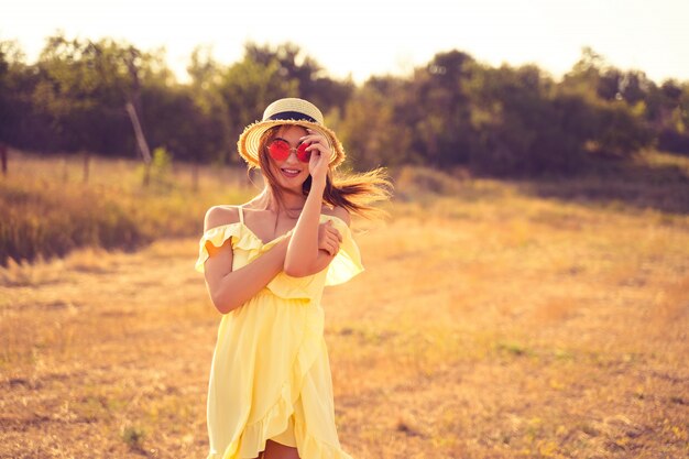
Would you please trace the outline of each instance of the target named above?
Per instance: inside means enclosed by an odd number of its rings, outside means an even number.
[[[208,389],[208,459],[344,459],[322,336],[326,285],[360,273],[350,211],[389,197],[380,170],[335,179],[344,150],[302,99],[271,103],[238,142],[265,187],[208,210],[198,271],[218,330]]]

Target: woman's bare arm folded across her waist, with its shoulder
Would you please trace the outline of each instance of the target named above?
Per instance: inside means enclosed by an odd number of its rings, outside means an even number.
[[[228,210],[212,208],[206,214],[205,230],[223,225],[227,220]],[[232,271],[232,244],[229,240],[219,248],[207,244],[209,258],[204,264],[204,272],[206,286],[216,308],[227,314],[265,287],[282,271],[288,241],[289,238],[285,238],[277,242],[263,255],[237,271]]]

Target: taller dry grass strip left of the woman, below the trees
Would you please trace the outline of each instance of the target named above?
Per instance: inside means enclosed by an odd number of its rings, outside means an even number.
[[[0,181],[6,266],[9,259],[64,256],[83,247],[134,250],[161,237],[193,236],[212,203],[241,200],[252,190],[242,172],[227,167],[203,167],[196,186],[189,172],[165,167],[143,187],[143,171],[132,161],[91,159],[85,182],[79,157],[11,153],[9,176]]]

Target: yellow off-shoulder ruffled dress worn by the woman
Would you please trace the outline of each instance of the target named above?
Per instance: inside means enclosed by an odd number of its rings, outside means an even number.
[[[239,270],[289,234],[264,244],[239,210],[239,222],[204,233],[197,271],[204,272],[207,243],[220,247],[231,239],[232,270]],[[326,285],[347,282],[363,266],[349,227],[320,216],[327,220],[342,234],[327,269],[306,277],[281,272],[222,316],[208,384],[208,459],[255,458],[267,439],[296,447],[302,459],[351,459],[335,425],[320,298]]]

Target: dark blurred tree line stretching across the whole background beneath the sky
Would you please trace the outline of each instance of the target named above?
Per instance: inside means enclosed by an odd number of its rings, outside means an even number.
[[[0,143],[143,159],[150,145],[175,160],[239,163],[241,130],[272,100],[302,97],[321,108],[353,168],[571,174],[647,147],[689,153],[689,81],[658,85],[591,48],[560,80],[536,65],[494,67],[451,50],[408,75],[356,85],[291,43],[248,43],[227,65],[198,47],[187,72],[179,83],[162,52],[111,39],[56,34],[32,64],[15,42],[0,42]]]

